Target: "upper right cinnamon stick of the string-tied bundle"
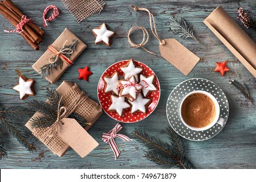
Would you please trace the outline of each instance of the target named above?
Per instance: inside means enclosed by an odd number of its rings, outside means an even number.
[[[4,0],[3,3],[5,4],[5,6],[7,6],[7,8],[9,10],[11,10],[12,12],[14,12],[19,18],[22,18],[22,16],[24,15],[20,9],[14,5],[14,3],[12,3],[12,1],[10,0]],[[32,29],[35,30],[35,32],[37,32],[37,34],[40,35],[40,37],[42,37],[42,35],[44,34],[44,31],[42,31],[42,29],[40,29],[37,25],[35,25],[32,22],[28,22],[27,25],[29,25]]]

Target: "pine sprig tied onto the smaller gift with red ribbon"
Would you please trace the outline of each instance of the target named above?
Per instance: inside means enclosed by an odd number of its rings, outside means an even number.
[[[71,45],[64,45],[59,51],[63,51],[64,49],[71,49],[72,51],[74,51],[76,49],[77,41],[78,41],[78,39],[72,40]],[[67,58],[71,57],[71,54],[70,54],[71,50],[65,51],[66,53],[64,52],[64,53],[62,53],[62,55],[64,55]],[[55,59],[56,59],[56,56],[51,58],[52,61],[54,61]],[[61,58],[58,57],[56,62],[52,62],[50,64],[45,64],[44,66],[42,66],[40,68],[40,73],[41,73],[42,77],[45,78],[51,74],[51,70],[57,70],[58,68],[62,68],[62,66],[63,66],[63,60],[61,60]]]

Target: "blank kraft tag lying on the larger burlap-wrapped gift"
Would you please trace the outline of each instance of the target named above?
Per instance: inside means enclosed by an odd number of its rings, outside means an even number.
[[[67,142],[80,157],[86,157],[88,153],[99,146],[98,142],[76,120],[63,118],[61,122],[62,124],[59,124],[57,129],[57,135]]]

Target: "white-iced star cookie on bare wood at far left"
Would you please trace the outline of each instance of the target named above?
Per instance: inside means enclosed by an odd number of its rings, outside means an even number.
[[[20,99],[24,100],[28,96],[35,96],[34,85],[33,79],[27,79],[24,75],[20,75],[18,85],[14,86],[13,89],[20,92]]]

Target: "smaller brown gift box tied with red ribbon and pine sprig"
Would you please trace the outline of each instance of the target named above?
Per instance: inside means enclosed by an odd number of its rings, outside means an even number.
[[[56,83],[86,47],[82,40],[65,28],[32,68],[50,83]]]

